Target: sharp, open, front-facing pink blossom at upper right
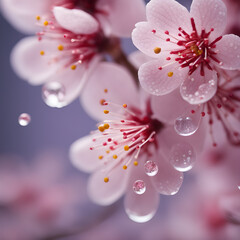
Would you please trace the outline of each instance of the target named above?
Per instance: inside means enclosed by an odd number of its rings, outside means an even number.
[[[146,15],[132,39],[156,58],[139,69],[140,83],[149,93],[164,95],[180,86],[186,101],[199,104],[216,93],[218,69],[240,68],[240,38],[222,35],[227,15],[221,0],[193,0],[190,13],[174,0],[151,0]],[[192,89],[201,95],[194,103]]]

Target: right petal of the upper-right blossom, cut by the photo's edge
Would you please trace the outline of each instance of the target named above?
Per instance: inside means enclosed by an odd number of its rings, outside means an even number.
[[[224,35],[216,45],[219,51],[216,58],[222,62],[217,66],[228,70],[240,69],[240,38],[233,34]]]

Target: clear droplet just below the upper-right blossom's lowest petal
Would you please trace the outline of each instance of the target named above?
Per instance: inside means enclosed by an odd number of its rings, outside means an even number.
[[[197,131],[198,126],[194,124],[190,117],[178,117],[175,120],[174,128],[177,134],[181,136],[190,136]]]

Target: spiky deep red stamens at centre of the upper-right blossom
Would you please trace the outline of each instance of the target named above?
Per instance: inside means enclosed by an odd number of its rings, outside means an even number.
[[[214,31],[213,28],[209,32],[206,32],[205,29],[202,29],[201,33],[199,34],[197,32],[195,21],[193,18],[191,18],[191,25],[191,34],[187,33],[181,27],[178,28],[179,32],[177,36],[172,36],[169,31],[165,31],[164,34],[167,35],[167,38],[157,36],[156,30],[152,30],[152,32],[157,37],[164,39],[166,42],[171,42],[178,46],[176,50],[170,51],[170,55],[172,56],[167,57],[166,60],[169,61],[173,59],[175,55],[177,55],[177,57],[174,58],[174,62],[178,62],[181,68],[188,67],[189,75],[191,75],[198,67],[200,67],[200,74],[204,76],[204,67],[207,67],[209,70],[213,70],[210,64],[211,61],[218,63],[219,65],[223,64],[217,59],[217,51],[215,50],[216,43],[222,39],[222,36],[210,42],[209,36],[211,32]],[[155,50],[156,48],[154,49],[154,52],[158,54],[159,52],[156,52]],[[162,70],[163,67],[164,66],[159,67],[159,70]]]

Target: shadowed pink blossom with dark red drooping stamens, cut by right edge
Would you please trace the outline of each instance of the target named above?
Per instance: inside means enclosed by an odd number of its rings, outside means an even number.
[[[186,81],[187,82],[187,81]],[[185,84],[185,83],[184,83]],[[191,82],[188,82],[190,88]],[[215,95],[199,105],[192,105],[188,115],[195,115],[196,121],[208,123],[209,136],[213,146],[218,142],[228,141],[233,145],[240,145],[240,72],[218,70],[217,89]],[[194,87],[192,88],[192,90]],[[194,92],[194,90],[193,90]],[[193,99],[201,96],[201,93]],[[194,100],[193,100],[194,101]],[[190,113],[191,112],[191,113]],[[216,137],[218,132],[225,136]],[[224,140],[223,140],[224,139]]]

